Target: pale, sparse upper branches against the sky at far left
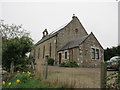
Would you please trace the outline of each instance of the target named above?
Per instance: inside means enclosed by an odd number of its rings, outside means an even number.
[[[3,20],[0,20],[0,34],[3,40],[30,35],[30,33],[22,28],[22,25],[9,25],[4,23]]]

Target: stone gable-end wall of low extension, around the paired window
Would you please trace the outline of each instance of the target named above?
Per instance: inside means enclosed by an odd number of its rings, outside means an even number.
[[[91,48],[99,49],[99,59],[92,59]],[[80,66],[100,67],[100,62],[104,60],[104,50],[93,33],[79,46],[79,50]]]

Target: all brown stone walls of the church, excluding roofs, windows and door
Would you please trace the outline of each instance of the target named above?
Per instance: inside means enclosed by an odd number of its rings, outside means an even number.
[[[34,56],[36,63],[44,61],[45,55],[59,61],[58,53],[62,53],[62,62],[76,61],[82,67],[100,66],[100,62],[104,59],[104,50],[93,33],[79,47],[57,52],[67,42],[88,35],[77,17],[73,17],[73,20],[57,33],[57,36],[40,43],[32,50],[31,55]],[[99,49],[99,59],[91,59],[91,48]],[[64,58],[65,52],[68,54],[67,59]]]

